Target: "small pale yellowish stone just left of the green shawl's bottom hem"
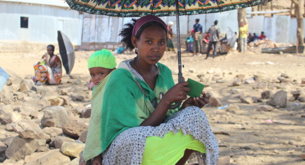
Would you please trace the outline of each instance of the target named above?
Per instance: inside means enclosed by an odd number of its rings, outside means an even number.
[[[64,142],[60,151],[68,156],[79,157],[79,153],[84,149],[85,144],[75,142]]]

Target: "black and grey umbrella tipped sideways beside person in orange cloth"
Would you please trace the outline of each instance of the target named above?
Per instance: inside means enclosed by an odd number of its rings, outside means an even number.
[[[75,61],[74,48],[69,38],[60,30],[57,31],[59,53],[67,75],[70,75]]]

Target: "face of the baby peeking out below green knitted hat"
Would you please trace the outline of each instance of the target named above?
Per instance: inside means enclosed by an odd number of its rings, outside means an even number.
[[[94,85],[98,85],[110,72],[112,69],[102,68],[102,67],[95,67],[90,68],[89,73],[91,76],[91,81]]]

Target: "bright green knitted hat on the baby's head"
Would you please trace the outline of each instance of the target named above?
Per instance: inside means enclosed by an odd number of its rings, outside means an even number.
[[[88,59],[88,69],[95,67],[114,69],[116,67],[115,57],[108,49],[94,52]]]

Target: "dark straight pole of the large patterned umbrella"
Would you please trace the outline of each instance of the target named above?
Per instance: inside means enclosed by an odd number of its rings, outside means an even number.
[[[180,21],[179,21],[179,6],[176,0],[176,28],[177,28],[177,52],[178,52],[178,82],[182,82],[182,64],[181,64],[181,45],[180,45]]]

